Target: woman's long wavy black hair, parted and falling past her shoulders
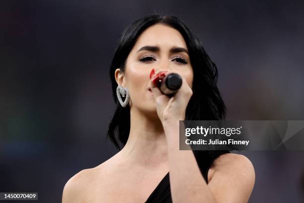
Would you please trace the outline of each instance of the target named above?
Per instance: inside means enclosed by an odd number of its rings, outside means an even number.
[[[130,24],[123,31],[116,48],[111,67],[110,78],[116,109],[109,124],[107,136],[121,150],[130,133],[130,106],[122,107],[116,96],[118,84],[115,80],[115,70],[125,71],[126,60],[139,35],[156,23],[162,23],[178,30],[183,36],[193,68],[193,95],[186,108],[185,120],[222,120],[226,116],[226,106],[217,87],[218,70],[210,59],[203,45],[186,24],[176,16],[152,14],[142,17]],[[193,150],[201,173],[207,181],[208,169],[213,161],[229,151],[198,151]]]

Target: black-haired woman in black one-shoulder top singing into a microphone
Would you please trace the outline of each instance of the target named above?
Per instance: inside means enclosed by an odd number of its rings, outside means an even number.
[[[152,82],[169,73],[182,77],[173,97]],[[225,118],[217,76],[215,64],[179,18],[153,14],[130,25],[110,68],[117,108],[108,135],[120,151],[72,177],[63,203],[247,202],[255,173],[246,157],[179,150],[179,120]]]

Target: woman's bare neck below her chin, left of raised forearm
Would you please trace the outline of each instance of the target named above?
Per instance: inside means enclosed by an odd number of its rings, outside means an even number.
[[[157,115],[148,115],[136,108],[130,111],[130,134],[120,151],[125,160],[144,167],[167,162],[167,141]]]

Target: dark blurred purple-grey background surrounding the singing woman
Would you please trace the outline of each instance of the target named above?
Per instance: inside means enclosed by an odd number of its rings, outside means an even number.
[[[177,15],[219,70],[227,119],[304,120],[304,2],[2,0],[0,192],[61,202],[77,172],[117,151],[109,66],[126,25]],[[304,201],[304,151],[246,151],[250,203]]]

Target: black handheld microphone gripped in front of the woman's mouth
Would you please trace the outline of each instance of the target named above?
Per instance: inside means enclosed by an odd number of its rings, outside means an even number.
[[[182,78],[176,73],[170,73],[164,78],[159,79],[157,86],[164,95],[175,94],[182,85]]]

